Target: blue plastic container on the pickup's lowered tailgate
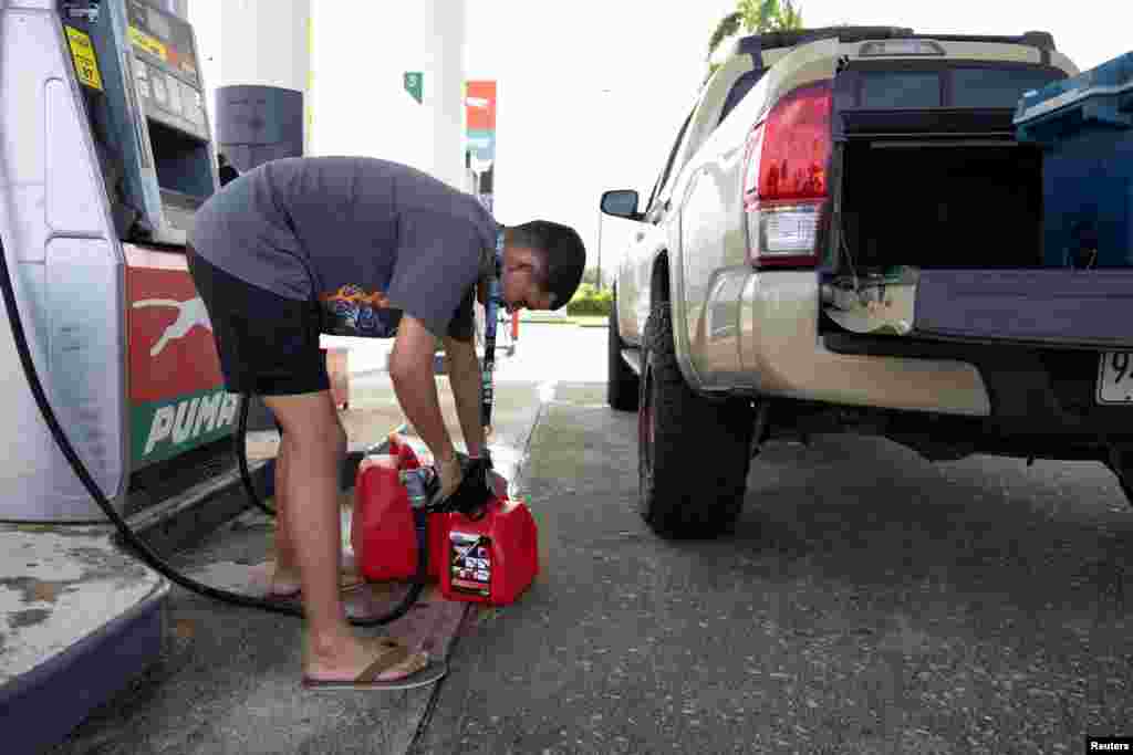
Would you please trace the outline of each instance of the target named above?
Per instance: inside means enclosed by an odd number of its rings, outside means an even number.
[[[1043,264],[1133,267],[1133,52],[1020,101],[1043,148]]]

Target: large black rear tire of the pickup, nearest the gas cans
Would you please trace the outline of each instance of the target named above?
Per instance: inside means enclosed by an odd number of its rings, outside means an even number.
[[[755,411],[742,398],[709,401],[684,381],[667,301],[645,332],[638,410],[638,511],[668,539],[731,533],[743,507]]]

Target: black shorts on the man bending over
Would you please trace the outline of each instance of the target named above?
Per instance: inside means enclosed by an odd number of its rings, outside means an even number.
[[[320,308],[229,275],[188,247],[189,273],[208,310],[230,393],[286,396],[330,391]]]

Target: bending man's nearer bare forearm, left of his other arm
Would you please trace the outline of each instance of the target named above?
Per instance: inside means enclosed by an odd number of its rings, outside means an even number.
[[[425,324],[408,312],[403,314],[393,353],[390,354],[390,378],[406,419],[420,435],[433,457],[438,462],[452,462],[457,458],[457,449],[444,427],[444,415],[437,401],[433,371],[435,345],[436,338]]]

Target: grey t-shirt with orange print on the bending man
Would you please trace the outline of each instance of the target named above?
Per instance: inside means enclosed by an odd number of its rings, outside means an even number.
[[[290,157],[213,195],[189,242],[247,283],[317,298],[324,333],[390,337],[404,311],[468,340],[499,228],[476,197],[407,165]]]

